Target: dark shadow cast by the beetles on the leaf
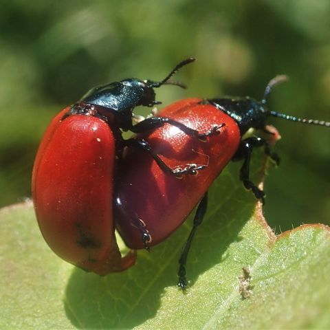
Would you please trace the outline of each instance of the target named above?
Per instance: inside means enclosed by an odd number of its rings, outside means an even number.
[[[230,165],[235,173],[236,166]],[[239,232],[252,216],[255,205],[252,194],[242,188],[229,170],[214,182],[208,212],[188,256],[188,294],[193,294],[201,274],[221,263],[231,243],[244,239]],[[133,328],[153,318],[162,305],[162,297],[175,288],[177,261],[191,222],[190,217],[189,225],[187,222],[181,225],[151,253],[139,251],[137,265],[126,272],[102,278],[74,269],[65,294],[65,310],[72,324],[94,329]],[[241,262],[243,265],[244,261]],[[219,274],[219,281],[222,276],[225,274]],[[208,283],[201,285],[207,287]],[[183,295],[179,289],[175,294]]]

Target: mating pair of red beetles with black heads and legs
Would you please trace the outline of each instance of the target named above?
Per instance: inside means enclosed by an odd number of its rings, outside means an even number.
[[[182,61],[160,82],[126,79],[91,89],[52,120],[36,155],[32,194],[41,232],[58,256],[100,275],[126,270],[135,263],[135,250],[166,239],[199,203],[179,259],[178,285],[184,288],[188,250],[206,212],[208,187],[230,160],[243,159],[243,184],[263,201],[263,191],[250,181],[250,155],[264,146],[275,162],[278,157],[260,137],[242,136],[250,128],[265,129],[269,115],[306,122],[265,107],[283,76],[271,80],[261,102],[181,100],[132,125],[135,107],[159,103],[155,88],[182,87],[170,77],[192,61]],[[329,127],[329,122],[307,122]],[[120,129],[138,135],[124,140]],[[132,249],[124,257],[115,228]]]

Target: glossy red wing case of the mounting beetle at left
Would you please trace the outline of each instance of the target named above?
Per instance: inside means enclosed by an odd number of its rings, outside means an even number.
[[[122,258],[113,225],[115,141],[109,125],[63,109],[48,127],[36,155],[32,196],[41,232],[62,259],[97,274],[135,263]]]

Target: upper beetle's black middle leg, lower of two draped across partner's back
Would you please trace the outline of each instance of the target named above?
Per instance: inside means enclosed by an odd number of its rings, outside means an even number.
[[[137,126],[137,125],[135,125]],[[181,177],[185,174],[191,174],[196,175],[197,170],[202,170],[203,168],[206,168],[206,165],[198,165],[197,164],[187,164],[184,167],[177,167],[177,168],[170,168],[168,165],[166,165],[162,159],[153,151],[153,148],[151,148],[150,144],[146,142],[146,140],[137,140],[137,139],[129,139],[124,140],[124,143],[126,146],[133,146],[137,148],[141,148],[142,150],[146,151],[153,159],[155,159],[155,162],[157,165],[164,170],[166,173],[170,173],[172,175],[175,175],[175,177]]]

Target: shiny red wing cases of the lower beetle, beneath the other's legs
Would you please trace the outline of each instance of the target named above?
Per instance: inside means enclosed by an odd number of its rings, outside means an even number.
[[[133,249],[144,248],[142,231],[147,230],[148,245],[164,241],[188,217],[214,179],[236,153],[241,134],[239,126],[212,104],[200,104],[199,98],[175,102],[158,115],[206,133],[219,126],[217,135],[206,141],[190,137],[174,126],[166,125],[144,138],[171,168],[179,164],[206,165],[196,176],[181,179],[168,175],[143,153],[127,151],[120,170],[120,185],[115,193],[116,227],[125,243]]]

